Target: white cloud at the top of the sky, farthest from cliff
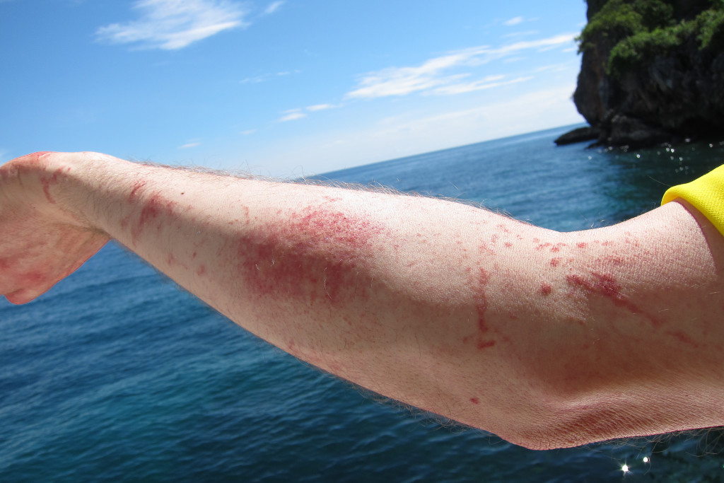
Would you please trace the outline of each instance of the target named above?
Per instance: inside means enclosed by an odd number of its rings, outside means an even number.
[[[137,0],[132,8],[140,12],[138,20],[98,28],[98,39],[175,50],[224,30],[248,26],[243,8],[229,0]]]

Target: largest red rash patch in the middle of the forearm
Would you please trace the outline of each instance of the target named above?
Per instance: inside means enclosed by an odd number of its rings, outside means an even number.
[[[334,303],[369,290],[374,279],[363,267],[381,232],[364,217],[308,207],[239,238],[237,266],[258,296]]]

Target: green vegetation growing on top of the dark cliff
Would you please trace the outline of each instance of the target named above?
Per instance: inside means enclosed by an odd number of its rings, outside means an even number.
[[[604,42],[610,49],[607,74],[618,78],[657,55],[696,41],[699,49],[724,49],[724,0],[703,0],[693,18],[682,15],[676,0],[589,0],[590,17],[578,38],[580,51]],[[708,8],[707,8],[708,7]],[[682,19],[683,17],[683,19]],[[682,19],[682,20],[677,20]]]

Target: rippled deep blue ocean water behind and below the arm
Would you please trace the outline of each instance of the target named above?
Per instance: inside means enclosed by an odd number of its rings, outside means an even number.
[[[568,231],[652,209],[667,186],[724,161],[717,142],[554,146],[567,129],[320,178],[477,201]],[[524,450],[361,394],[115,245],[38,301],[0,301],[3,482],[720,481],[723,434]]]

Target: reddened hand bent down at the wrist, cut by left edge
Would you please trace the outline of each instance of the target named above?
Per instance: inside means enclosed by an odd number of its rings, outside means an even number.
[[[109,240],[64,206],[74,156],[28,154],[0,167],[0,294],[12,303],[45,293]]]

